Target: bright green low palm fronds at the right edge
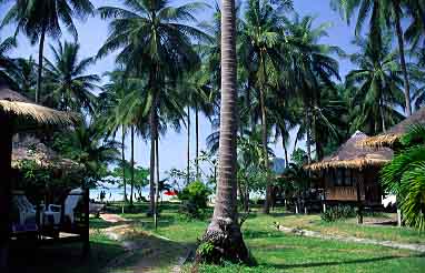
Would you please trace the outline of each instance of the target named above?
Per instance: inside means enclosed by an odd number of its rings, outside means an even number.
[[[402,136],[404,149],[382,170],[384,188],[397,195],[404,220],[425,230],[425,127],[413,124]]]

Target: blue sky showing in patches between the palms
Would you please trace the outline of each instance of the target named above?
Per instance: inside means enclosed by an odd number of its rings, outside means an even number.
[[[185,3],[184,0],[171,1],[174,6]],[[211,7],[215,6],[215,1],[207,0]],[[245,1],[243,1],[245,2]],[[96,8],[101,6],[119,6],[120,1],[116,0],[92,0],[92,3]],[[328,29],[328,37],[322,40],[323,43],[338,46],[346,53],[356,52],[355,46],[350,42],[354,38],[354,26],[347,26],[345,21],[342,20],[339,13],[330,9],[329,0],[294,0],[295,11],[300,16],[314,16],[316,18],[315,24],[318,26],[324,22],[330,22],[332,27]],[[9,9],[9,4],[0,6],[0,18],[3,18],[4,13]],[[211,19],[212,10],[206,10],[197,14],[198,21],[208,21]],[[101,20],[99,17],[89,18],[85,22],[76,22],[78,30],[78,41],[80,43],[80,58],[92,57],[100,49],[101,44],[106,41],[108,37],[108,21]],[[4,39],[11,36],[14,32],[14,26],[8,26],[0,30],[0,38]],[[71,40],[70,36],[63,31],[61,41]],[[51,50],[48,44],[56,46],[58,40],[47,38],[47,43],[45,47],[45,55],[49,59],[51,57]],[[29,40],[22,34],[18,38],[18,48],[11,51],[11,57],[23,57],[28,58],[32,55],[33,59],[38,59],[38,47],[32,47]],[[339,72],[342,77],[353,69],[353,65],[348,60],[339,60]],[[98,73],[103,74],[106,71],[113,70],[115,68],[115,54],[110,54],[107,58],[99,60],[93,64],[88,71],[88,73]],[[103,79],[105,81],[107,79]],[[195,118],[191,119],[192,121]],[[191,156],[195,154],[195,122],[192,122],[191,131],[191,145],[190,153]],[[206,138],[212,132],[209,121],[200,115],[199,121],[199,140],[200,140],[200,150],[206,150]],[[295,134],[290,132],[291,135]],[[120,135],[117,135],[117,139],[120,139]],[[289,144],[289,154],[293,151],[295,139],[291,138]],[[298,142],[298,146],[304,148],[305,143]],[[281,149],[281,141],[277,140],[276,144],[271,144],[271,148],[275,151],[277,158],[284,158],[284,151]],[[144,166],[149,166],[149,143],[137,139],[135,144],[135,161],[137,164]],[[127,159],[129,159],[129,149],[127,149]],[[161,136],[159,143],[159,162],[161,176],[164,172],[170,170],[171,168],[185,169],[186,168],[186,153],[187,153],[187,133],[186,129],[182,128],[180,133],[174,132],[172,130],[168,131],[166,135]]]

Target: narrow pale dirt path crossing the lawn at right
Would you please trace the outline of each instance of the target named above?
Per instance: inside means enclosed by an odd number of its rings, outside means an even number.
[[[374,239],[355,237],[355,236],[324,235],[320,232],[316,232],[316,231],[291,229],[291,228],[286,228],[283,225],[278,225],[277,229],[285,233],[291,233],[291,234],[296,234],[300,236],[318,237],[323,240],[337,240],[340,242],[350,242],[350,243],[360,243],[360,244],[374,244],[374,245],[382,245],[382,246],[387,246],[393,249],[411,250],[411,251],[425,253],[424,244],[398,243],[394,241],[379,241]]]

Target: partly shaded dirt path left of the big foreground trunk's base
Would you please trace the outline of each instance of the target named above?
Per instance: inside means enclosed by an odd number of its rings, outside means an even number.
[[[105,221],[117,223],[126,220],[108,214]],[[102,232],[111,240],[119,241],[126,250],[125,254],[107,264],[105,272],[156,272],[165,267],[180,272],[191,252],[190,247],[178,242],[136,230],[131,223],[107,228]]]

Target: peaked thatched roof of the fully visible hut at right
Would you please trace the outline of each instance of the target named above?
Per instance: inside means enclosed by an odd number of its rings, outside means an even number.
[[[329,168],[364,169],[380,166],[393,159],[393,150],[388,148],[373,149],[358,146],[358,141],[367,139],[363,132],[355,132],[335,153],[320,162],[307,165],[306,169],[318,171]]]

